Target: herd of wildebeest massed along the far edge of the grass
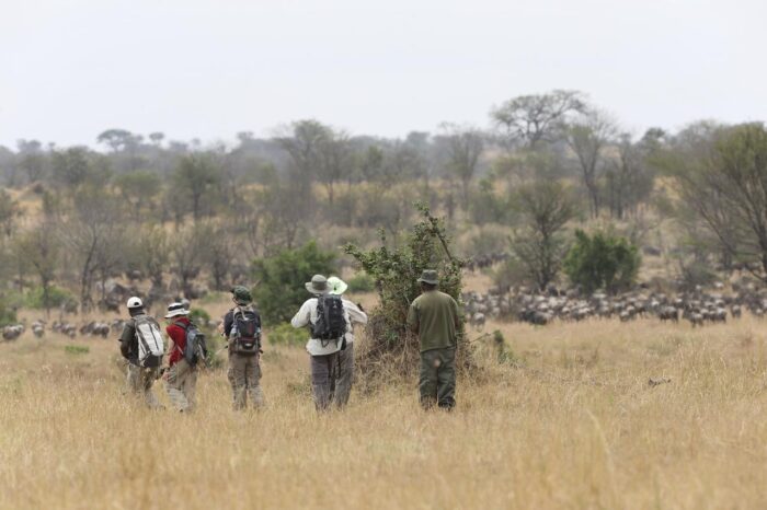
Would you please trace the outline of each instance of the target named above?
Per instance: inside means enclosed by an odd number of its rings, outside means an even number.
[[[467,271],[491,267],[506,258],[503,253],[474,257],[467,264]],[[205,291],[198,292],[204,294]],[[123,286],[112,281],[104,292],[102,303],[104,312],[118,312],[118,304],[127,295],[142,295],[136,286]],[[195,295],[198,298],[202,295]],[[172,301],[170,297],[159,295],[153,289],[146,294],[147,303],[152,301]],[[178,299],[176,299],[178,301]],[[169,301],[170,302],[170,301]],[[519,321],[543,326],[554,321],[585,321],[589,318],[617,318],[629,322],[640,317],[655,317],[663,322],[678,323],[688,321],[692,327],[705,324],[725,323],[728,318],[740,318],[744,311],[762,317],[767,313],[767,288],[760,288],[754,282],[716,283],[710,289],[696,287],[692,290],[678,292],[654,291],[649,286],[638,286],[637,289],[617,295],[606,292],[584,294],[577,288],[559,289],[550,286],[546,291],[534,291],[526,287],[508,289],[493,288],[488,292],[465,292],[461,304],[466,312],[467,323],[477,331],[482,331],[489,320]],[[45,336],[47,331],[66,335],[70,338],[78,336],[107,338],[110,334],[119,335],[123,331],[123,318],[89,321],[77,325],[66,321],[68,314],[77,313],[77,309],[62,305],[58,311],[59,318],[48,324],[36,320],[31,324],[14,324],[1,331],[3,340],[14,340],[30,329],[35,337]],[[208,324],[216,327],[217,324]]]

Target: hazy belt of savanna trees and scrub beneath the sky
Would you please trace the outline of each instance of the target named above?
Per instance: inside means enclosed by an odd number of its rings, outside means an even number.
[[[514,97],[490,120],[400,139],[298,120],[231,146],[124,129],[98,135],[99,151],[20,140],[0,147],[0,278],[20,293],[42,288],[48,303],[58,285],[84,308],[126,273],[157,289],[169,275],[183,293],[224,289],[254,258],[309,240],[365,244],[382,229],[398,242],[419,200],[472,240],[465,255],[510,252],[506,273],[538,286],[558,278],[574,220],[617,230],[689,278],[714,266],[767,274],[762,124],[630,134],[562,90]]]

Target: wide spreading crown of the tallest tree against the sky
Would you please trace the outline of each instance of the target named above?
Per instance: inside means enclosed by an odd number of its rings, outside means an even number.
[[[508,146],[523,144],[536,149],[541,142],[552,142],[559,126],[570,114],[586,108],[584,94],[577,91],[553,90],[547,94],[520,95],[491,111],[491,119]]]

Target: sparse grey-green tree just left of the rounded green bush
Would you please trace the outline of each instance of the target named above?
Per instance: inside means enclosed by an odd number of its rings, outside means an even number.
[[[529,278],[545,290],[566,253],[562,231],[575,216],[574,200],[568,188],[551,179],[519,187],[515,198],[524,227],[515,233],[512,251]]]

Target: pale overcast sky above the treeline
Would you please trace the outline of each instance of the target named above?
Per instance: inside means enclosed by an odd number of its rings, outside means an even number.
[[[764,0],[0,0],[0,144],[403,136],[576,89],[626,128],[767,119]]]

